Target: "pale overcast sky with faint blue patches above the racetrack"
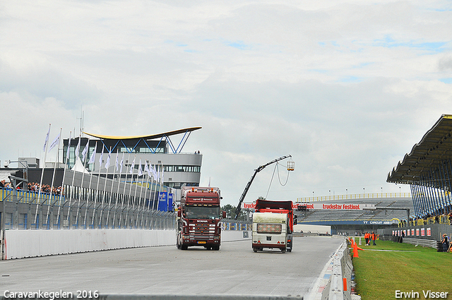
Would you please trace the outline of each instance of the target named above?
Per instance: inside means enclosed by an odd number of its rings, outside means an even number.
[[[245,202],[408,193],[386,179],[452,114],[451,28],[451,1],[3,1],[1,164],[83,112],[110,136],[201,126],[183,152],[222,204],[284,155]]]

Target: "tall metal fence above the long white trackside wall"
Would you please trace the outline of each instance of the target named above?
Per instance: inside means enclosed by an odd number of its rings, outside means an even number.
[[[176,214],[154,210],[152,199],[0,189],[1,229],[175,229]]]

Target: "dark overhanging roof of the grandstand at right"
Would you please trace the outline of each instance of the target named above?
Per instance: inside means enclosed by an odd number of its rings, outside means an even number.
[[[389,172],[386,181],[396,184],[412,184],[420,180],[422,172],[452,158],[452,115],[443,114],[425,133],[420,143],[413,146],[402,162]]]

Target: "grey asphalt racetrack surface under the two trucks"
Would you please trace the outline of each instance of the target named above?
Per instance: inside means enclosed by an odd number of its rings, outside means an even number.
[[[0,261],[0,299],[9,292],[103,295],[306,296],[342,239],[295,237],[291,253],[254,253],[251,241],[220,251],[129,248]]]

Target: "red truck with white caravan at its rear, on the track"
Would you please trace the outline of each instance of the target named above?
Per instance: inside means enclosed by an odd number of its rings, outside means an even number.
[[[292,201],[256,200],[253,213],[253,251],[263,248],[292,251]]]

